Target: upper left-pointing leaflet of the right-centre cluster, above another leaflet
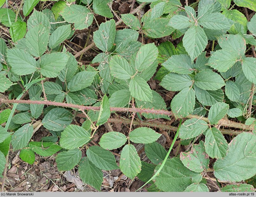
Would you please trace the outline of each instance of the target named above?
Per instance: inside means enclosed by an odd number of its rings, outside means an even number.
[[[188,55],[173,55],[162,65],[170,72],[179,74],[191,74],[193,73],[194,63],[191,62],[191,58]]]

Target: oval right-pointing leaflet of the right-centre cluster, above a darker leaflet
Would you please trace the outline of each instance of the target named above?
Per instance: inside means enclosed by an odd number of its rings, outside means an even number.
[[[195,85],[204,90],[217,90],[225,85],[222,77],[212,70],[202,70],[194,77]]]

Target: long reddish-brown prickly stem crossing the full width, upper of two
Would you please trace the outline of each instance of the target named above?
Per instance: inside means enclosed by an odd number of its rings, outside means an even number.
[[[95,106],[83,106],[83,105],[75,105],[75,104],[69,104],[69,103],[63,103],[63,102],[52,102],[52,101],[31,101],[31,100],[8,100],[8,99],[2,99],[0,98],[0,103],[24,103],[24,104],[43,104],[43,105],[54,105],[58,107],[64,107],[64,108],[76,108],[79,111],[82,110],[100,110],[100,107]],[[159,115],[167,115],[167,116],[173,116],[173,113],[171,111],[167,110],[160,110],[160,109],[145,109],[145,108],[119,108],[119,107],[111,107],[111,111],[119,111],[119,112],[138,112],[138,113],[147,113],[147,114],[159,114]],[[200,117],[197,115],[189,115],[188,118],[197,118]],[[201,120],[204,120],[209,123],[208,118],[200,118]],[[235,121],[225,120],[221,119],[219,122],[221,122],[221,126],[225,127],[231,127],[231,128],[240,128],[243,130],[253,130],[253,126],[247,126],[243,123],[238,123]]]

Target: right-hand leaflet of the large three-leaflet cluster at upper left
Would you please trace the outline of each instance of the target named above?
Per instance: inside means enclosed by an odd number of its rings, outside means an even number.
[[[56,77],[67,62],[68,56],[64,53],[44,54],[40,61],[41,74],[46,77]]]

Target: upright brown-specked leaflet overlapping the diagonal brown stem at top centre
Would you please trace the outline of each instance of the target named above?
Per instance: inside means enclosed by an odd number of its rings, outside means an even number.
[[[101,23],[99,29],[93,32],[93,41],[100,50],[106,52],[112,48],[115,35],[115,20],[111,19],[110,21]]]

